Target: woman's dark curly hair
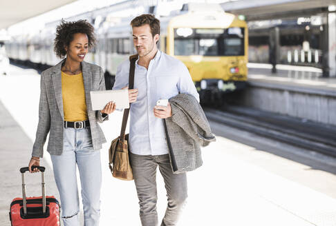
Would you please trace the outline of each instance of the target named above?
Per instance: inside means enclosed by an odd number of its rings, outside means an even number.
[[[76,33],[86,34],[88,36],[88,49],[95,45],[95,32],[93,25],[88,21],[80,19],[79,21],[64,21],[56,28],[56,38],[54,43],[54,51],[56,56],[64,58],[66,56],[65,47],[69,46],[73,41],[73,35]]]

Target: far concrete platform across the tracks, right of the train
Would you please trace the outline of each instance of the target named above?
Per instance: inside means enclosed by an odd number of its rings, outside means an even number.
[[[248,66],[248,87],[236,98],[239,105],[336,126],[336,78],[323,78],[316,68],[277,65],[272,74],[271,65]]]

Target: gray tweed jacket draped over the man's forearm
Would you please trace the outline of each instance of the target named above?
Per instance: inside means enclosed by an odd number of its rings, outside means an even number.
[[[171,169],[174,174],[195,170],[202,165],[200,146],[216,141],[202,107],[190,94],[169,99],[171,117],[165,119]]]

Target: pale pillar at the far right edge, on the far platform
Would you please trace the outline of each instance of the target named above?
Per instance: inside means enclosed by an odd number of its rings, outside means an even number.
[[[328,14],[328,66],[329,76],[336,77],[336,13]]]

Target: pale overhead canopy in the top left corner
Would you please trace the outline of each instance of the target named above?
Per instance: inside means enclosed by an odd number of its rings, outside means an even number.
[[[0,29],[77,0],[1,0]]]

